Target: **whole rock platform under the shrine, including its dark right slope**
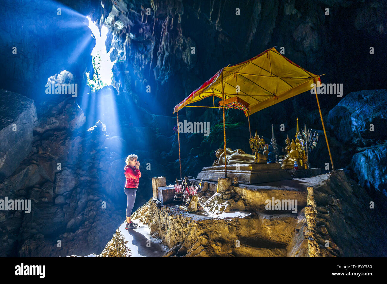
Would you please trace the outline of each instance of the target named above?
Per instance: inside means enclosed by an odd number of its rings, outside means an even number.
[[[207,214],[188,213],[179,206],[166,206],[151,198],[132,218],[147,224],[151,235],[170,248],[166,257],[387,255],[383,243],[385,220],[378,216],[378,209],[370,208],[371,199],[366,192],[347,179],[342,170],[298,182],[303,185],[296,191],[273,185],[270,188],[262,185],[259,190],[230,186],[230,191],[239,192],[238,202],[230,192],[212,193],[207,205],[215,200],[228,200],[230,206],[224,212],[229,213],[213,215],[210,210]],[[311,187],[308,191],[307,185]],[[211,191],[211,187],[207,190]],[[265,210],[264,199],[276,194],[282,198],[298,198],[298,212]],[[368,230],[376,231],[365,235],[364,231]],[[125,256],[123,247],[112,247],[113,242],[122,244],[122,236],[113,235],[102,256]]]

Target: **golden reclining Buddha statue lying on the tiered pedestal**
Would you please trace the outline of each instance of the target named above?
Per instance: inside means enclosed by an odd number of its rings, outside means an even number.
[[[216,160],[212,164],[212,167],[224,165],[224,149],[218,149],[215,152]],[[266,163],[266,156],[260,153],[258,155],[258,163]],[[255,164],[255,155],[246,154],[245,151],[241,149],[231,150],[226,148],[226,161],[227,165],[236,165],[236,164]]]

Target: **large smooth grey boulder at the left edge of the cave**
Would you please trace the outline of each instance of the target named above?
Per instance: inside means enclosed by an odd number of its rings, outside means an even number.
[[[0,90],[0,176],[8,177],[32,149],[34,101]]]

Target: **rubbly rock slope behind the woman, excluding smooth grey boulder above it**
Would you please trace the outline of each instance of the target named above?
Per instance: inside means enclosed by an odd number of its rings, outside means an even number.
[[[83,132],[69,128],[36,131],[35,150],[9,177],[0,177],[0,196],[31,199],[31,214],[0,212],[1,256],[101,252],[122,222],[124,158],[117,157],[115,143],[103,144],[107,135],[99,126]]]

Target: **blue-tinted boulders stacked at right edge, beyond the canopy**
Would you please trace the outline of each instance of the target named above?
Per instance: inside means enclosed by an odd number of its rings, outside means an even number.
[[[328,114],[337,140],[349,145],[342,156],[361,186],[375,198],[387,200],[387,90],[348,94]],[[382,204],[383,202],[380,202]]]

